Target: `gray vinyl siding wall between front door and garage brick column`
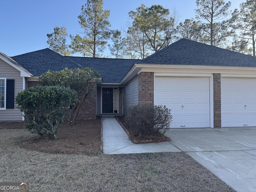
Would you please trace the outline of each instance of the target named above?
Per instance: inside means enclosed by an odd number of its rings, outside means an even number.
[[[124,114],[130,106],[138,104],[138,76],[124,86]]]

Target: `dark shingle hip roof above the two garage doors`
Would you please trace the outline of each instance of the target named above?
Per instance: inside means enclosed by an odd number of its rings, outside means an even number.
[[[140,63],[256,67],[256,58],[199,42],[181,39],[141,60]]]

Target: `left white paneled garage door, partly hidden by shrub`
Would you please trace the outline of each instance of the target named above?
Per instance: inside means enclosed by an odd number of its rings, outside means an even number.
[[[154,104],[172,110],[171,128],[210,127],[210,79],[156,77]]]

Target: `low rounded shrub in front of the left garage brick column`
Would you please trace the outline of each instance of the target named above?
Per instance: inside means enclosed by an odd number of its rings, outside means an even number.
[[[166,106],[138,104],[128,109],[125,123],[135,137],[164,134],[172,122],[171,110]]]

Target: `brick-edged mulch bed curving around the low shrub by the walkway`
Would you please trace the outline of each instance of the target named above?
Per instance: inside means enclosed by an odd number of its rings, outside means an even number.
[[[123,116],[115,116],[115,117],[116,117],[116,120],[119,122],[119,124],[122,126],[122,128],[125,130],[127,135],[129,136],[130,140],[134,144],[157,143],[157,142],[170,141],[170,138],[166,137],[164,134],[156,134],[154,136],[134,137],[134,136],[132,136],[132,134],[130,134],[128,126],[125,123],[124,117]]]

